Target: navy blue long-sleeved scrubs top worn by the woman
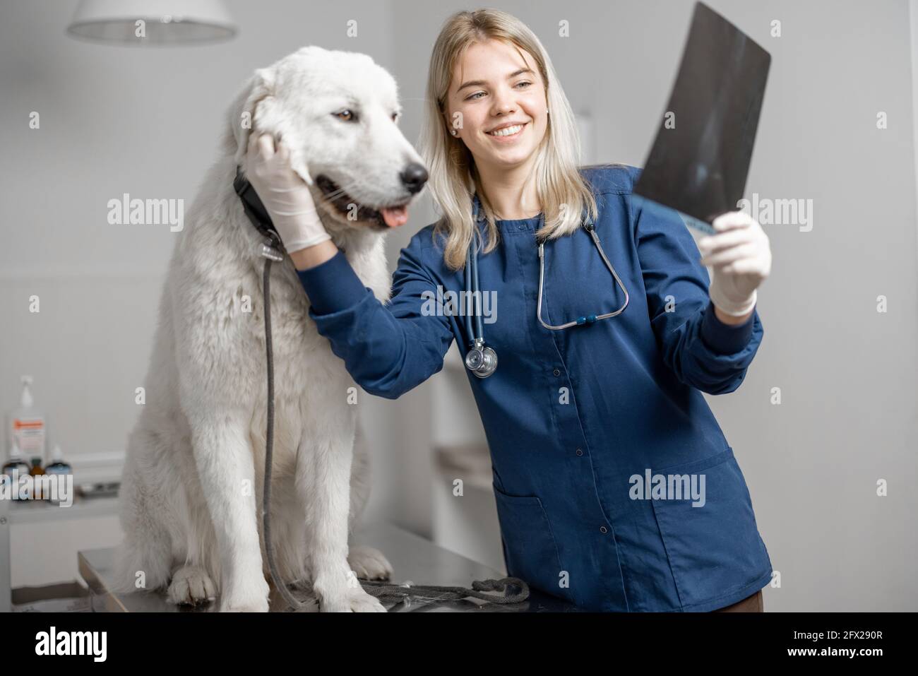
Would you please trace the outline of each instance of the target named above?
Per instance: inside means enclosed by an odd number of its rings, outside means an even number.
[[[639,169],[582,173],[597,197],[597,234],[628,289],[619,316],[563,331],[539,323],[538,217],[498,221],[498,247],[478,257],[482,293],[497,291],[497,321],[483,328],[498,369],[468,379],[490,446],[507,569],[586,610],[722,608],[764,587],[772,568],[702,392],[740,386],[762,324],[757,311],[736,326],[716,318],[685,223],[671,210],[644,213],[630,197]],[[431,314],[429,301],[424,310],[422,292],[465,291],[432,231],[401,250],[386,305],[341,252],[298,273],[319,333],[356,383],[386,399],[438,372],[453,339],[468,351],[464,316]],[[544,254],[543,321],[621,307],[587,231],[546,242]],[[638,490],[658,474],[697,489],[703,477],[703,504],[688,492]]]

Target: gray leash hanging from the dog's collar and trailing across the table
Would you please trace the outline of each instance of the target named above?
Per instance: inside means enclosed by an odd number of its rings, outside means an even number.
[[[251,217],[250,217],[251,218]],[[274,562],[274,544],[271,539],[271,464],[274,456],[274,346],[271,341],[271,263],[283,260],[283,245],[280,237],[274,231],[269,231],[268,241],[264,242],[262,255],[264,256],[264,274],[262,286],[264,289],[264,344],[268,358],[268,421],[267,434],[265,434],[264,447],[264,491],[262,500],[262,525],[264,530],[264,547],[268,555],[268,569],[271,571],[271,580],[274,587],[280,591],[286,603],[294,610],[303,610],[306,604],[297,601],[297,598],[287,589]],[[472,580],[472,589],[467,587],[439,587],[435,585],[404,586],[390,582],[375,580],[360,580],[361,585],[371,596],[377,599],[400,601],[406,597],[433,598],[442,601],[458,601],[465,598],[480,599],[486,603],[506,605],[521,603],[529,598],[529,585],[519,578],[503,578],[501,580]],[[509,585],[515,585],[520,591],[515,594],[508,593]],[[500,596],[498,593],[502,592]]]

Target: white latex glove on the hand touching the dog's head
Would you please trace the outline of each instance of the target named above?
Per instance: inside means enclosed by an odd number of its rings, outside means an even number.
[[[255,188],[287,254],[331,239],[302,178],[290,167],[290,152],[274,136],[249,136],[245,177]]]

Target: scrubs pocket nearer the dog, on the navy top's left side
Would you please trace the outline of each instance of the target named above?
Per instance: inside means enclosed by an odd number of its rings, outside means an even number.
[[[497,486],[494,496],[507,574],[546,593],[564,596],[565,590],[558,586],[558,547],[542,501],[534,495],[508,495]]]

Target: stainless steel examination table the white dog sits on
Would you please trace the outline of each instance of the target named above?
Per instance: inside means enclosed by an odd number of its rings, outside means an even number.
[[[391,582],[397,584],[411,581],[418,585],[450,585],[471,587],[472,580],[500,580],[504,577],[495,569],[488,568],[448,549],[434,545],[418,535],[409,533],[392,524],[367,524],[352,538],[352,544],[375,546],[382,551],[395,569]],[[92,609],[102,613],[213,613],[218,610],[218,601],[210,601],[196,608],[184,608],[168,603],[164,591],[135,591],[116,594],[109,591],[115,550],[113,548],[91,549],[78,553],[80,575],[90,590]],[[291,590],[300,601],[311,598],[307,590]],[[409,600],[384,601],[390,613],[405,612],[570,612],[576,611],[570,603],[540,591],[530,589],[529,600],[512,605],[484,603],[476,599],[460,601],[436,601],[410,598]],[[286,604],[272,585],[270,597],[271,612],[283,612]],[[315,604],[311,606],[315,609]]]

